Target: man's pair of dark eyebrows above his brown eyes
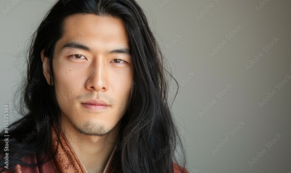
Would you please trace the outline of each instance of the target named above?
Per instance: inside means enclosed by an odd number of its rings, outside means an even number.
[[[88,52],[93,52],[93,49],[91,49],[89,46],[86,46],[86,45],[78,43],[78,42],[69,42],[69,43],[65,44],[61,48],[61,52],[64,51],[65,49],[81,49],[81,50],[85,50]],[[129,50],[129,48],[125,48],[125,47],[116,48],[116,49],[113,49],[111,51],[107,51],[107,53],[108,54],[120,53],[120,54],[131,55],[131,51]]]

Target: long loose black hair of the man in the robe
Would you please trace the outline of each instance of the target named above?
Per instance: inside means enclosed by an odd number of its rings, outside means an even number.
[[[50,147],[52,124],[56,123],[59,135],[61,114],[54,85],[49,85],[43,75],[40,53],[45,49],[45,56],[49,58],[52,83],[54,48],[64,36],[64,19],[74,14],[116,17],[122,19],[127,28],[133,58],[133,85],[119,130],[114,170],[173,173],[173,162],[186,167],[186,152],[168,102],[167,75],[173,76],[165,69],[161,49],[143,10],[134,0],[58,0],[45,15],[29,47],[27,78],[19,102],[22,117],[9,126],[9,167],[40,165],[56,153]],[[3,139],[5,134],[0,135]],[[0,145],[4,148],[2,139]],[[32,154],[40,160],[36,165],[21,161],[23,156]],[[1,167],[5,166],[4,156],[0,158]],[[45,159],[47,156],[49,159]],[[181,172],[183,170],[181,168]]]

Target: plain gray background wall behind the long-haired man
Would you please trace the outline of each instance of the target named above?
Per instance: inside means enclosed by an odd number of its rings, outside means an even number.
[[[0,1],[2,129],[4,104],[10,104],[10,122],[13,121],[13,90],[21,80],[19,69],[24,69],[25,65],[21,57],[25,47],[21,51],[16,51],[15,47],[27,42],[26,38],[36,29],[53,2],[20,0],[4,15],[2,10],[12,2]],[[262,8],[258,10],[255,6],[263,3],[262,0],[139,2],[147,12],[157,40],[164,47],[171,73],[180,82],[172,111],[186,145],[189,172],[290,173],[291,80],[280,90],[276,85],[291,73],[291,1],[264,0],[267,3],[263,7],[261,4]],[[213,7],[204,10],[210,3]],[[197,19],[200,10],[207,13]],[[233,31],[236,25],[242,27],[238,32]],[[228,40],[226,35],[231,32],[235,35]],[[182,38],[176,39],[179,34]],[[279,40],[273,46],[270,44],[272,48],[265,53],[263,48],[272,42],[273,37]],[[226,44],[210,58],[209,53],[223,40]],[[171,49],[169,42],[173,43]],[[260,60],[253,60],[260,52],[264,54]],[[247,69],[250,60],[256,63]],[[189,76],[190,79],[188,74],[191,72],[195,75]],[[226,84],[233,87],[225,93]],[[270,100],[267,98],[267,103],[260,107],[259,102],[272,90],[276,94]],[[219,92],[225,94],[218,100]],[[217,102],[200,116],[199,112],[203,107],[206,109],[207,102],[213,99]],[[245,125],[240,126],[239,122]],[[231,130],[238,131],[231,135]],[[274,140],[276,134],[282,136],[276,138],[278,141]],[[229,140],[221,143],[226,137]],[[266,146],[272,140],[276,143]],[[223,146],[217,151],[216,145]],[[267,152],[260,158],[257,156],[259,159],[250,166],[249,161],[263,149]],[[214,150],[217,152],[213,154]]]

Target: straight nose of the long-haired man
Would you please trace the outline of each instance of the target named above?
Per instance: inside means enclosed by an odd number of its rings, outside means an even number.
[[[100,58],[98,58],[100,59]],[[88,66],[88,79],[86,81],[86,89],[99,91],[107,91],[108,83],[108,68],[107,64],[100,60],[92,61]]]

